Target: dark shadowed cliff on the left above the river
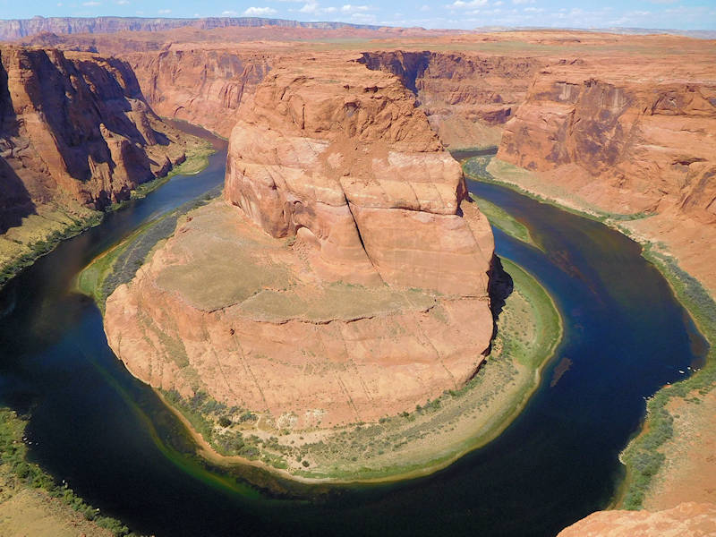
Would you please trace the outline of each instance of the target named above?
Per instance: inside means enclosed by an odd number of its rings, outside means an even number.
[[[42,205],[128,199],[183,161],[184,138],[121,60],[0,47],[0,233]]]

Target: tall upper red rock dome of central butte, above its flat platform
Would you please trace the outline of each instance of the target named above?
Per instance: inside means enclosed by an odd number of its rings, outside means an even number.
[[[293,65],[242,107],[226,199],[328,279],[485,295],[489,226],[410,91],[348,57]]]

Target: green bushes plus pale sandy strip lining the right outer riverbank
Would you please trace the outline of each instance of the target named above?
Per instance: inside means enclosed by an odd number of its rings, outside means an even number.
[[[695,367],[686,379],[664,386],[647,400],[644,422],[619,456],[625,465],[626,477],[611,508],[640,509],[656,502],[660,487],[675,485],[669,483],[669,472],[678,466],[677,457],[683,457],[689,449],[689,439],[674,433],[677,421],[681,427],[689,426],[686,417],[675,413],[674,408],[684,403],[701,405],[716,389],[716,302],[712,295],[697,278],[679,266],[665,244],[653,243],[629,227],[630,222],[648,215],[607,213],[579,198],[563,199],[564,192],[549,189],[544,192],[530,172],[490,156],[466,158],[462,165],[468,179],[505,186],[559,209],[600,221],[635,240],[642,246],[644,259],[661,272],[709,345],[702,366]],[[707,405],[695,411],[697,415],[708,412],[711,411]]]

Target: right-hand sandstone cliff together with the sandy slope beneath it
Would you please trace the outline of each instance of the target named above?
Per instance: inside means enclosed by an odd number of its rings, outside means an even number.
[[[712,59],[552,65],[506,124],[498,158],[532,171],[534,192],[616,215],[665,243],[713,291],[703,255],[716,239]]]

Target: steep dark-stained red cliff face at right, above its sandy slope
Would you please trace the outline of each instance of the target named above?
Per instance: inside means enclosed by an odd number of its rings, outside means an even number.
[[[634,212],[678,207],[713,221],[715,131],[713,81],[609,81],[555,69],[533,82],[498,158],[537,172],[578,166],[584,181],[601,183],[596,201],[606,209],[612,198]]]

